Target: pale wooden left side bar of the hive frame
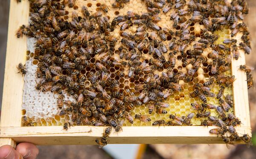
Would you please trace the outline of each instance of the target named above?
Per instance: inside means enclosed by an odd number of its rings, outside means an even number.
[[[21,104],[23,93],[23,78],[21,77],[17,64],[25,62],[26,37],[16,37],[16,31],[22,24],[28,23],[29,1],[16,0],[10,2],[9,28],[6,49],[6,65],[3,85],[3,101],[0,126],[20,126],[21,125]]]

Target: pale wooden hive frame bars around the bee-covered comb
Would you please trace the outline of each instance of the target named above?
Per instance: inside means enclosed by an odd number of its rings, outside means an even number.
[[[3,102],[0,119],[0,146],[31,142],[35,145],[94,145],[95,139],[102,136],[105,127],[74,126],[67,132],[61,126],[21,127],[21,105],[23,94],[23,78],[17,74],[16,64],[25,62],[27,41],[17,39],[15,31],[18,26],[29,19],[29,1],[10,2],[9,29],[4,75]],[[232,61],[234,114],[241,120],[236,127],[239,136],[246,133],[251,136],[250,114],[247,93],[246,74],[238,71],[245,64],[244,52],[238,60]],[[119,133],[112,132],[109,144],[223,144],[221,137],[210,134],[214,127],[203,126],[160,126],[160,127],[123,127]],[[239,141],[236,144],[242,144]]]

